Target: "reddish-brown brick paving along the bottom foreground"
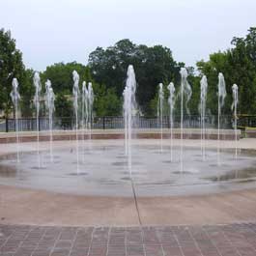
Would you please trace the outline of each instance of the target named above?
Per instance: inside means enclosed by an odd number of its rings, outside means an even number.
[[[255,256],[256,223],[164,227],[0,225],[1,256]]]

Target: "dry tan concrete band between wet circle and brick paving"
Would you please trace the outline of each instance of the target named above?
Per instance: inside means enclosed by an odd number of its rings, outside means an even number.
[[[137,207],[145,226],[256,223],[256,189],[138,197]],[[0,185],[0,224],[136,226],[139,219],[134,198],[67,195]]]

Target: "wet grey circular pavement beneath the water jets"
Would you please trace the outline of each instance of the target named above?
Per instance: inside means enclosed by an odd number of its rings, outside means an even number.
[[[136,145],[132,148],[131,169],[124,146],[105,142],[79,147],[65,145],[49,151],[20,152],[0,157],[0,185],[43,189],[67,194],[133,197],[130,178],[137,196],[200,195],[256,187],[256,157],[234,149],[185,147],[183,158],[174,147]],[[218,159],[218,161],[217,161]],[[182,163],[182,164],[181,164]],[[181,168],[182,166],[182,168]],[[131,173],[131,176],[130,176]]]

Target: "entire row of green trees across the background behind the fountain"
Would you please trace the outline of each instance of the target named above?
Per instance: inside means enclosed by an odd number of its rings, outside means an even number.
[[[107,48],[97,47],[89,55],[88,65],[76,62],[56,63],[42,71],[42,83],[50,79],[56,94],[56,116],[72,115],[71,88],[73,70],[80,75],[80,81],[92,82],[95,92],[95,116],[122,115],[123,90],[125,88],[128,65],[133,65],[136,73],[136,100],[143,115],[156,115],[157,88],[163,83],[165,98],[167,85],[173,82],[179,92],[181,68],[188,71],[188,82],[192,87],[192,98],[188,103],[191,114],[198,114],[200,100],[200,79],[208,77],[207,113],[217,112],[217,75],[222,72],[226,80],[227,100],[224,113],[230,114],[232,85],[239,85],[239,113],[256,113],[256,28],[251,27],[244,38],[233,38],[231,47],[225,51],[210,54],[208,61],[198,61],[196,67],[186,67],[185,63],[174,60],[172,51],[165,46],[135,44],[128,39],[121,40]],[[0,30],[0,109],[6,117],[12,113],[10,98],[12,80],[19,81],[21,95],[21,115],[34,115],[33,70],[26,69],[22,53],[15,46],[10,31]],[[179,94],[177,94],[178,96]],[[176,100],[179,102],[179,98]],[[179,111],[180,105],[176,104]],[[43,113],[42,113],[43,115]]]

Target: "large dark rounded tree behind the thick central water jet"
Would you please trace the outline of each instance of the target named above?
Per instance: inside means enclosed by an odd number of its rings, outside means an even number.
[[[181,65],[173,60],[172,52],[162,45],[148,47],[128,39],[106,49],[98,47],[89,56],[89,67],[97,83],[114,88],[122,97],[128,65],[133,65],[137,80],[137,100],[144,112],[150,112],[156,87],[164,80],[179,80]]]

